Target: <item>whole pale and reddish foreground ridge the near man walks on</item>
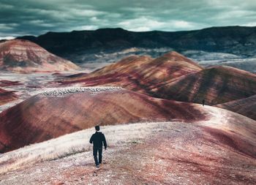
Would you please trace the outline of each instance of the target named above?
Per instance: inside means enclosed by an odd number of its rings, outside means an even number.
[[[200,109],[207,118],[193,123],[102,127],[109,147],[98,169],[93,128],[7,152],[0,156],[0,184],[255,184],[256,122]]]

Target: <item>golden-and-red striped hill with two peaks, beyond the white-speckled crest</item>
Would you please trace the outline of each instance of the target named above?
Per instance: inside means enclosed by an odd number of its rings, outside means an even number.
[[[151,89],[166,81],[199,72],[200,67],[174,51],[159,58],[148,56],[129,56],[115,64],[97,69],[86,75],[72,75],[59,80],[59,83],[69,85],[79,83],[80,86],[122,86],[132,91],[151,95]]]

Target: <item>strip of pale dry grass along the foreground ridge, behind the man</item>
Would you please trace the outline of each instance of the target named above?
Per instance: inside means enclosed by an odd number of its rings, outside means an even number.
[[[168,122],[105,126],[101,127],[101,130],[107,138],[108,146],[111,148],[124,143],[138,143],[140,139],[154,132],[159,124],[165,125]],[[37,162],[59,159],[83,151],[90,151],[92,146],[89,143],[89,139],[93,133],[94,128],[85,129],[1,154],[0,173],[17,170]]]

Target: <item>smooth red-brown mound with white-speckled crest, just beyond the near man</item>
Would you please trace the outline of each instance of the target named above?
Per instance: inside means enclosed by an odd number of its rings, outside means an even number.
[[[198,107],[122,88],[53,89],[0,113],[0,151],[11,151],[96,124],[200,120],[205,116]]]

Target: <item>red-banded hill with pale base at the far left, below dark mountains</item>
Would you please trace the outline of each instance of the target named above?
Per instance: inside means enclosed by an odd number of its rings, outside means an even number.
[[[49,53],[27,40],[0,42],[0,70],[12,72],[55,72],[78,69],[78,66]]]

